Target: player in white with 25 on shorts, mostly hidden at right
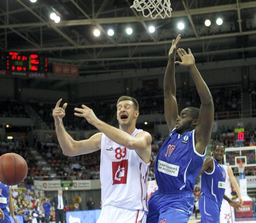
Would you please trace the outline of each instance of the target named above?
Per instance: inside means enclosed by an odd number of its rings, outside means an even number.
[[[241,197],[240,189],[238,183],[236,182],[236,178],[233,174],[232,168],[230,166],[222,165],[223,169],[226,172],[226,189],[225,195],[231,199],[231,185],[235,188],[236,194],[238,195],[239,203],[243,205],[244,201]],[[235,211],[234,208],[231,207],[228,202],[223,199],[221,208],[220,208],[220,223],[235,223]]]

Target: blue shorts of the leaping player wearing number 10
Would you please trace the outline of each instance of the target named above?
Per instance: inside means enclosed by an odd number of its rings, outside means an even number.
[[[194,208],[191,191],[156,190],[148,200],[146,223],[187,223]]]

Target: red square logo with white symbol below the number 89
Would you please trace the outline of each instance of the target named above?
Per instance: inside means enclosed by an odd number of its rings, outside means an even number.
[[[112,162],[113,184],[126,184],[128,172],[128,160]]]

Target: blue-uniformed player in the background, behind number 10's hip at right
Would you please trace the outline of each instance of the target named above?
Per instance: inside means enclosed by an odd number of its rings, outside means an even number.
[[[220,223],[220,207],[223,200],[229,205],[238,208],[239,203],[231,201],[225,193],[226,173],[221,165],[225,154],[225,147],[222,143],[217,143],[213,147],[212,157],[204,161],[201,176],[201,196],[199,199],[199,210],[201,213],[201,223]]]

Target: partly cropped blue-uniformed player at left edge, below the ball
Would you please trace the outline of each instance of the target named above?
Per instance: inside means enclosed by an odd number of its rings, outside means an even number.
[[[12,187],[0,182],[0,208],[3,211],[4,218],[0,219],[0,223],[11,223],[7,206],[9,205],[10,213],[13,220],[18,223],[18,219],[14,216],[12,203]]]

